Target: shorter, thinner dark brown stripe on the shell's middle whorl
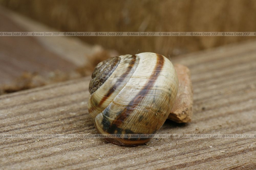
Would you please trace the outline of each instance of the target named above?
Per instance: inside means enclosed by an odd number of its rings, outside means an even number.
[[[132,57],[133,57],[132,60],[129,61],[129,66],[127,67],[127,69],[125,69],[126,71],[118,78],[118,80],[116,81],[116,84],[110,87],[110,89],[108,90],[108,93],[101,99],[99,106],[101,106],[104,103],[104,101],[109,98],[109,96],[115,91],[115,89],[118,86],[120,86],[120,84],[124,81],[126,76],[131,72],[137,58],[136,55],[132,55]]]

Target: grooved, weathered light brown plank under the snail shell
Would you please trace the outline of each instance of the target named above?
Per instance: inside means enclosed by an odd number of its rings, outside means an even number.
[[[191,123],[159,133],[256,133],[256,42],[174,58],[194,89]],[[90,77],[0,96],[0,133],[96,133]],[[104,139],[0,138],[2,169],[255,169],[255,139],[151,139],[124,147]],[[209,148],[212,146],[212,148]]]

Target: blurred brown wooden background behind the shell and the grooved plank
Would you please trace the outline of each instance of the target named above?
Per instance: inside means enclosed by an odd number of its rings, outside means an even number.
[[[0,5],[0,31],[256,30],[254,0],[0,0]],[[253,39],[245,36],[1,37],[0,93],[87,76],[98,62],[114,55],[155,52],[177,58]]]

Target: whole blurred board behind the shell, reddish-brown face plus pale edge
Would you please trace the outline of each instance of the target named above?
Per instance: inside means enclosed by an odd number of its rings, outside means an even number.
[[[1,6],[0,23],[1,32],[57,31]],[[24,72],[36,72],[46,77],[55,70],[70,72],[78,66],[89,65],[93,63],[90,56],[102,51],[104,51],[102,47],[89,45],[76,37],[2,36],[0,38],[0,90],[3,84],[12,83]]]

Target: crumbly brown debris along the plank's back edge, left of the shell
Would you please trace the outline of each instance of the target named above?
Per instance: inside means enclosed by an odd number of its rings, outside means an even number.
[[[94,67],[99,62],[112,57],[112,55],[117,55],[117,53],[101,49],[95,54],[87,56],[90,62],[87,61],[83,66],[78,66],[75,70],[69,72],[55,70],[44,75],[39,72],[24,72],[12,83],[0,84],[0,95],[91,75]]]

